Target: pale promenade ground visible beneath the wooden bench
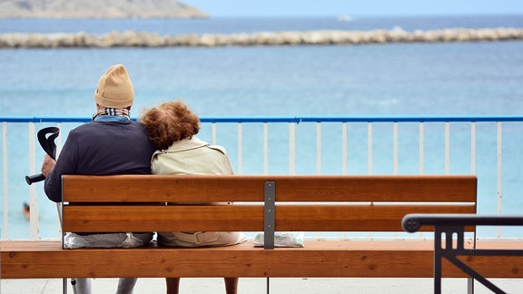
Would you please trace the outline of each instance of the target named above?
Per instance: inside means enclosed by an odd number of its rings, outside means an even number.
[[[520,293],[523,279],[492,279],[508,293]],[[94,279],[94,294],[114,293],[117,279]],[[266,291],[266,279],[240,279],[240,294],[262,294]],[[272,294],[345,294],[345,293],[432,293],[432,279],[271,279]],[[476,294],[491,293],[476,282]],[[444,279],[442,293],[466,293],[467,279]],[[62,293],[62,279],[2,279],[1,294],[52,294]],[[73,293],[69,286],[68,293]],[[134,294],[165,293],[163,279],[138,279]],[[225,293],[223,280],[182,279],[181,294]]]

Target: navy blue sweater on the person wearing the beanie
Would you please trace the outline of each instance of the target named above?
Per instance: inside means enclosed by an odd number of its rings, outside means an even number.
[[[139,122],[89,122],[67,136],[44,191],[62,201],[64,174],[148,174],[155,148]]]

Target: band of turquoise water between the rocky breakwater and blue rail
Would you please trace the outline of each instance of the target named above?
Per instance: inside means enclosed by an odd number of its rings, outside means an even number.
[[[517,114],[523,108],[523,42],[0,53],[1,115],[87,115],[98,76],[116,63],[133,79],[135,114],[176,97],[202,116]]]

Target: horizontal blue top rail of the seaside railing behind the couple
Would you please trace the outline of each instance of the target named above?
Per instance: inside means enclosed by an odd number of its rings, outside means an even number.
[[[133,117],[136,120],[136,117]],[[0,122],[90,122],[86,116],[0,116]],[[201,122],[523,122],[523,115],[202,116]]]

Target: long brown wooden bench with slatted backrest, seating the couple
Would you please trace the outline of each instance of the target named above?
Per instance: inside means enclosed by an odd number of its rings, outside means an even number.
[[[265,231],[269,240],[273,230],[401,232],[408,213],[476,213],[477,202],[472,175],[65,175],[63,186],[64,231]],[[165,205],[223,201],[234,204]],[[59,241],[3,241],[1,269],[3,279],[431,278],[431,236],[305,240],[304,248],[276,249],[251,240],[220,248],[77,250],[63,250]],[[522,262],[494,259],[474,256],[469,264],[485,277],[521,278]],[[467,277],[445,262],[443,269],[443,277]]]

